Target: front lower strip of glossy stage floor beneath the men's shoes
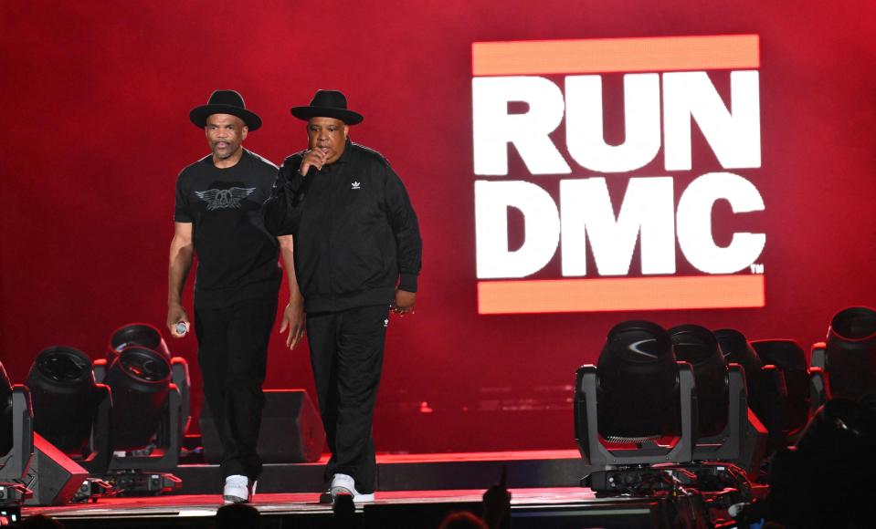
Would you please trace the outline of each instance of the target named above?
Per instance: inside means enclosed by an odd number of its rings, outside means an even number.
[[[364,527],[437,527],[447,513],[480,513],[483,490],[399,491],[376,494],[374,503],[356,506]],[[514,527],[653,527],[660,502],[648,498],[597,498],[581,487],[512,489]],[[256,494],[252,503],[263,527],[324,527],[331,505],[317,493]],[[97,503],[26,507],[22,514],[46,513],[66,527],[208,527],[221,506],[216,494],[101,498]],[[544,524],[545,519],[551,523]],[[416,522],[414,522],[416,520]],[[571,525],[569,525],[571,526]]]

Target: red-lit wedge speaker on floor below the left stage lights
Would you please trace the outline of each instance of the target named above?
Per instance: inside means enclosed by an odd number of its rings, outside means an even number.
[[[73,499],[89,472],[52,443],[34,433],[34,459],[25,485],[34,492],[25,505],[64,505]]]

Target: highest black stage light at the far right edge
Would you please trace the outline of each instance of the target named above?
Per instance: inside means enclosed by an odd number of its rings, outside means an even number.
[[[811,366],[826,375],[826,398],[876,406],[876,310],[850,306],[833,316],[827,341],[812,347]]]

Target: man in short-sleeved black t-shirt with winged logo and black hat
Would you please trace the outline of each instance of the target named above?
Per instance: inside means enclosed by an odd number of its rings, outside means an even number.
[[[176,182],[167,327],[174,337],[188,330],[181,298],[197,254],[198,365],[222,441],[224,500],[242,503],[251,499],[261,472],[256,453],[261,385],[282,277],[279,243],[259,214],[277,166],[241,146],[261,119],[246,109],[237,92],[216,90],[189,117],[206,131],[213,152],[186,167]]]

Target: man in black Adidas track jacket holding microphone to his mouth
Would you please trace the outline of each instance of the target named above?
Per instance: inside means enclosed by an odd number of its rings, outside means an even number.
[[[307,329],[332,451],[325,469],[331,484],[320,500],[351,494],[370,502],[388,312],[410,313],[417,299],[417,214],[389,162],[349,140],[350,126],[363,117],[347,109],[341,92],[319,90],[291,112],[307,121],[308,149],[283,162],[265,203],[266,225],[280,238],[284,262],[295,261],[290,279],[301,288],[291,292],[280,332],[289,327],[287,345],[295,347]]]

